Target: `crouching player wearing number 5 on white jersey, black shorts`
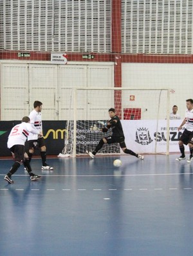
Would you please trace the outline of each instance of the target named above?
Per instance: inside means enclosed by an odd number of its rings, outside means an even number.
[[[12,168],[10,169],[10,172],[8,172],[4,178],[5,181],[7,181],[10,184],[14,183],[11,177],[17,171],[19,166],[21,166],[22,163],[24,164],[26,170],[28,171],[31,181],[37,181],[37,179],[41,177],[41,176],[35,175],[32,172],[28,155],[27,153],[24,152],[24,144],[29,135],[29,132],[32,132],[37,136],[38,135],[42,136],[41,132],[32,128],[32,124],[30,124],[30,118],[23,117],[22,123],[15,125],[12,128],[10,135],[8,137],[7,146],[12,152],[12,156],[14,157],[14,161],[15,161],[14,164],[12,165]]]

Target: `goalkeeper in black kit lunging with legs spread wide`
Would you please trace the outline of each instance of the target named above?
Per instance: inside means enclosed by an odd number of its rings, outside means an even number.
[[[104,126],[101,129],[101,131],[107,132],[111,128],[112,130],[111,137],[104,137],[99,141],[98,145],[96,146],[93,152],[86,150],[86,153],[91,158],[94,158],[96,153],[102,148],[104,144],[119,143],[124,153],[129,153],[130,155],[134,155],[135,157],[138,157],[139,159],[143,160],[144,159],[143,155],[138,155],[137,153],[134,153],[132,150],[127,149],[127,146],[125,144],[125,136],[124,136],[122,124],[120,122],[119,117],[115,114],[115,108],[109,109],[109,117],[111,119],[107,122],[107,126]]]

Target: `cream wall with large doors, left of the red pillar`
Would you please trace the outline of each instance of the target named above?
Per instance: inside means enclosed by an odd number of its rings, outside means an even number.
[[[72,89],[114,86],[113,63],[68,63],[0,61],[1,120],[19,120],[43,103],[44,120],[73,119]],[[102,96],[102,97],[101,97]],[[78,92],[77,118],[104,119],[113,106],[109,92]],[[69,111],[71,109],[71,111]]]

